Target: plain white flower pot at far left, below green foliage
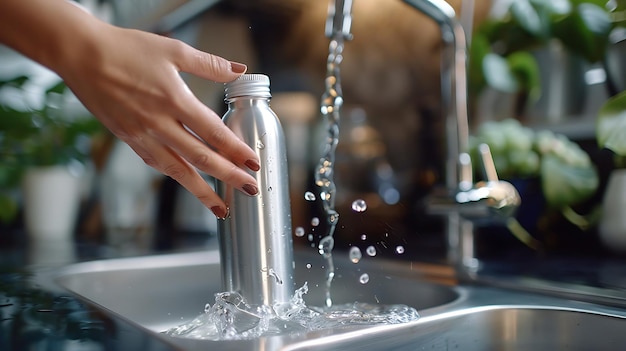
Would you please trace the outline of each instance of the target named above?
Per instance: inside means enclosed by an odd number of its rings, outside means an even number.
[[[80,202],[79,177],[63,166],[32,168],[26,172],[23,190],[24,220],[31,238],[73,237]]]

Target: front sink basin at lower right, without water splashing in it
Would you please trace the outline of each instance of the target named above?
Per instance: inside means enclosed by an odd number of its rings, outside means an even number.
[[[623,316],[541,306],[467,308],[291,350],[623,350]]]

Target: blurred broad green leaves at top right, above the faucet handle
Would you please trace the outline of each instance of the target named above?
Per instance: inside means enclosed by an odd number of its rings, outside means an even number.
[[[506,11],[482,23],[473,34],[470,91],[489,86],[538,98],[540,74],[533,50],[559,41],[588,62],[604,58],[613,28],[606,0],[515,0]],[[626,8],[626,7],[625,7]]]

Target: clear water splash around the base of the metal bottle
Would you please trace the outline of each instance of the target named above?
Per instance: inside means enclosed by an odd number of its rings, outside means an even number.
[[[361,277],[361,282],[367,278]],[[215,294],[215,303],[204,313],[164,333],[169,336],[203,340],[245,340],[262,336],[334,329],[346,325],[400,324],[419,319],[406,305],[350,303],[332,307],[308,307],[305,283],[287,303],[253,307],[238,293]]]

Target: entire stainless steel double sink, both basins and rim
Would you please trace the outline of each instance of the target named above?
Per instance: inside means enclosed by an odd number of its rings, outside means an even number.
[[[324,261],[296,255],[308,305],[322,306]],[[307,268],[307,264],[311,268]],[[54,281],[106,313],[182,350],[602,350],[626,347],[626,312],[499,288],[428,283],[410,264],[337,257],[337,304],[406,304],[418,321],[319,330],[255,340],[207,341],[163,333],[189,321],[221,291],[217,251],[103,260],[57,271]],[[367,284],[358,277],[368,273]]]

